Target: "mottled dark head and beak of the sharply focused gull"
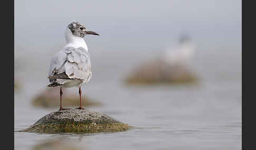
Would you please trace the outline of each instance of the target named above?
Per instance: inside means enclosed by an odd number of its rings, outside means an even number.
[[[79,22],[73,22],[67,26],[70,29],[71,33],[76,37],[83,38],[86,35],[97,35],[94,31],[88,30],[84,25],[80,24]]]

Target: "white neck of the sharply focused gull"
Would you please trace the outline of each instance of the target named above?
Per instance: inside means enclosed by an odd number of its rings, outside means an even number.
[[[88,47],[84,39],[81,37],[74,36],[71,33],[71,30],[68,28],[66,29],[65,38],[67,42],[67,45],[65,46],[65,48],[66,47],[74,47],[74,48],[83,47],[86,51],[88,51]]]

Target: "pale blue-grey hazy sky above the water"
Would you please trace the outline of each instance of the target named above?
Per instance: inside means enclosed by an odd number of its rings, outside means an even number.
[[[241,46],[241,1],[16,1],[15,44],[25,49],[65,42],[68,24],[81,22],[100,37],[89,46],[166,47],[188,33],[204,46]]]

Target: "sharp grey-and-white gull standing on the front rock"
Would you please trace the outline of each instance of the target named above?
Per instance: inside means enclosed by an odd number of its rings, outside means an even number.
[[[97,35],[94,31],[88,30],[79,22],[72,22],[66,28],[65,38],[67,44],[53,56],[48,73],[50,84],[47,87],[60,87],[62,108],[62,88],[79,88],[80,107],[84,109],[81,98],[81,85],[87,83],[92,78],[92,69],[88,47],[83,37],[86,35]]]

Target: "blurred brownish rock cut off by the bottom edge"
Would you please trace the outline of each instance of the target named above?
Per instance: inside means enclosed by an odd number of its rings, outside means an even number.
[[[33,147],[33,150],[80,150],[80,149],[84,149],[84,148],[76,146],[76,144],[73,142],[64,141],[62,139],[47,140]]]

